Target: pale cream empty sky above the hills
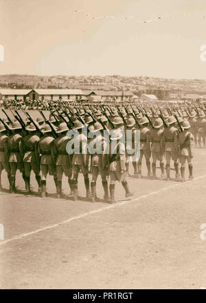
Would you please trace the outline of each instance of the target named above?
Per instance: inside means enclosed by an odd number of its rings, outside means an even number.
[[[205,0],[0,0],[0,74],[205,79],[205,29]]]

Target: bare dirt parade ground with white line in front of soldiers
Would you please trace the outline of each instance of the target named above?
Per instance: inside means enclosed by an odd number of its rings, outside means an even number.
[[[112,205],[101,200],[100,179],[100,200],[91,203],[84,198],[82,175],[76,202],[68,196],[66,178],[64,199],[55,199],[52,177],[47,182],[48,196],[41,199],[34,175],[34,195],[29,196],[23,193],[19,175],[17,186],[22,192],[0,194],[1,288],[206,287],[206,240],[201,239],[201,225],[206,223],[205,156],[206,149],[194,149],[193,181],[129,177],[134,196],[122,199],[119,183],[117,203]],[[8,188],[4,172],[2,179],[3,188]]]

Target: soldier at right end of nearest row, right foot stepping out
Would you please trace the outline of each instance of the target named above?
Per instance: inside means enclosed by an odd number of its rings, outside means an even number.
[[[109,186],[111,194],[111,203],[115,202],[115,182],[122,182],[124,187],[126,197],[133,196],[128,188],[128,183],[126,181],[126,154],[125,145],[120,141],[123,136],[124,131],[122,130],[112,130],[111,131],[111,142],[109,144],[109,176],[111,183]]]

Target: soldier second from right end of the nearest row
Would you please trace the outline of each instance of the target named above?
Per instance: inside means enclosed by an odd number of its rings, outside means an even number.
[[[102,177],[102,186],[104,188],[104,200],[109,200],[108,195],[108,159],[106,150],[108,148],[108,140],[104,137],[103,126],[99,122],[95,122],[92,131],[95,138],[89,143],[89,153],[91,154],[91,201],[95,202],[96,199],[96,181],[98,175]]]

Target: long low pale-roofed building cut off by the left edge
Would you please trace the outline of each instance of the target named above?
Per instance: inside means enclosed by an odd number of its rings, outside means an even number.
[[[33,89],[0,89],[0,100],[34,100],[36,93]]]

